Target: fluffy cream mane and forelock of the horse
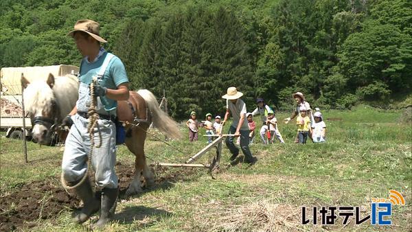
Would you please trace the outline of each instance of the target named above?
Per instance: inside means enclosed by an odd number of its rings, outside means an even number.
[[[60,106],[60,117],[63,118],[76,104],[78,98],[78,80],[76,76],[68,74],[54,80],[53,89],[45,80],[36,80],[27,85],[23,92],[25,108],[30,113],[51,110],[52,102]]]

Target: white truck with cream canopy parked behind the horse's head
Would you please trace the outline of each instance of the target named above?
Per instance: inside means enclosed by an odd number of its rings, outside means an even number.
[[[5,137],[23,139],[23,113],[21,97],[21,73],[29,81],[47,80],[49,73],[55,77],[69,73],[78,73],[79,68],[73,65],[53,65],[45,67],[7,67],[0,71],[0,130],[5,131]],[[27,113],[26,113],[27,115]],[[32,139],[32,122],[30,117],[24,117],[26,138]]]

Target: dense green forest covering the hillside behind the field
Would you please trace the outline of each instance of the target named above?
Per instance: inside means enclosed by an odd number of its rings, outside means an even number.
[[[290,111],[295,91],[319,108],[411,98],[408,0],[2,0],[0,67],[80,65],[78,19],[176,119],[223,113],[229,86],[249,111],[256,97]]]

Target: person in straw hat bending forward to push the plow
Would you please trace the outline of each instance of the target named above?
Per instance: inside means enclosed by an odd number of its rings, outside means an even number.
[[[227,89],[227,94],[223,95],[222,98],[226,99],[226,114],[225,119],[223,119],[223,124],[229,118],[231,114],[233,116],[233,121],[231,126],[229,127],[229,134],[234,134],[235,137],[240,136],[240,148],[244,154],[244,163],[250,163],[253,165],[258,161],[258,159],[252,156],[251,150],[249,150],[249,126],[247,124],[246,119],[246,104],[240,97],[242,97],[243,93],[240,93],[235,87],[229,87]],[[230,161],[232,161],[232,165],[236,164],[236,157],[239,154],[239,149],[236,148],[235,143],[233,143],[233,137],[226,138],[226,146],[229,148],[232,156],[230,157]]]

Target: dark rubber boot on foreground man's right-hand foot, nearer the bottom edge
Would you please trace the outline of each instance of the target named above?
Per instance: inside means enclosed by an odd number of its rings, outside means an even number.
[[[102,205],[100,207],[100,218],[93,224],[92,229],[102,229],[107,222],[110,222],[115,214],[115,205],[118,189],[104,188],[102,192]]]

